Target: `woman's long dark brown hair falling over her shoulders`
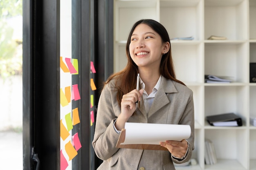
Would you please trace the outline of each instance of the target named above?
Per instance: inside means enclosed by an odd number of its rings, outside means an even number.
[[[115,78],[115,81],[116,81],[115,85],[117,88],[117,101],[119,102],[119,105],[121,105],[121,99],[123,95],[126,93],[129,93],[130,91],[136,88],[135,77],[137,77],[138,66],[135,64],[135,62],[133,62],[130,56],[129,46],[130,46],[132,33],[139,24],[146,24],[150,26],[154,31],[156,31],[160,35],[160,37],[162,38],[162,42],[170,43],[168,32],[166,31],[166,29],[162,24],[160,24],[155,20],[151,20],[151,19],[139,20],[132,26],[132,29],[130,30],[127,43],[126,43],[126,57],[128,60],[127,65],[123,70],[119,71],[118,73],[114,73],[110,75],[110,77],[105,83],[107,84],[108,82],[110,82],[110,80]],[[166,79],[171,79],[175,82],[185,85],[183,82],[176,79],[175,71],[173,68],[173,58],[171,55],[171,47],[167,53],[162,55],[159,69],[160,69],[160,74],[164,76]]]

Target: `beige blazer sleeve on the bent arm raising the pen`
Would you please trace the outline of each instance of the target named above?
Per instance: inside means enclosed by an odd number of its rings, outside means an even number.
[[[114,94],[111,88],[113,90],[114,87],[107,84],[101,92],[97,109],[94,139],[92,141],[92,146],[97,157],[102,160],[109,159],[119,149],[116,148],[119,134],[113,127],[114,121],[117,119],[113,106],[118,104],[116,93]]]

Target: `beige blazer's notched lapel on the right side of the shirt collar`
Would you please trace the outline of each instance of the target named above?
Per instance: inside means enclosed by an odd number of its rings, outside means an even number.
[[[155,95],[154,102],[148,112],[148,117],[150,117],[155,112],[157,112],[157,110],[171,102],[170,99],[168,99],[168,97],[166,96],[166,93],[177,93],[177,89],[175,88],[171,80],[162,77],[162,81]]]

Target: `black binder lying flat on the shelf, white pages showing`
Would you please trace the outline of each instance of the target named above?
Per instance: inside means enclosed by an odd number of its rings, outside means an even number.
[[[218,114],[218,115],[211,115],[207,116],[206,120],[211,126],[242,126],[242,119],[238,115],[234,113],[223,113],[223,114]],[[232,121],[235,122],[236,124],[230,124]],[[220,124],[220,125],[219,125]]]

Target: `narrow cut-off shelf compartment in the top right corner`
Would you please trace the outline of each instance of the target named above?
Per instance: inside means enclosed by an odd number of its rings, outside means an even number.
[[[250,40],[256,40],[256,0],[249,0],[249,29],[250,29]]]

